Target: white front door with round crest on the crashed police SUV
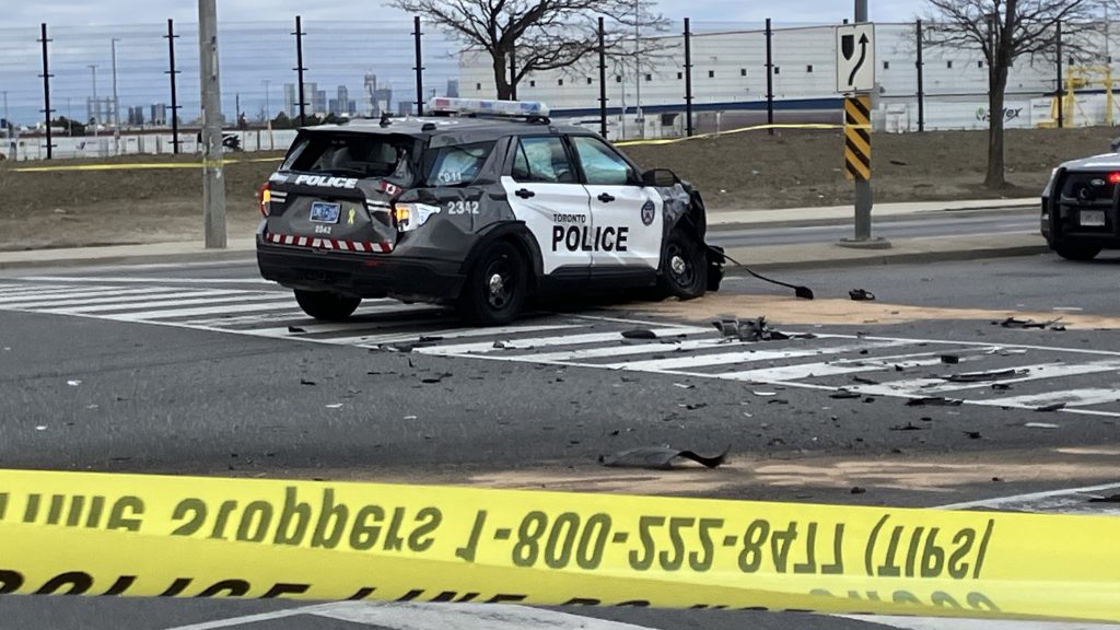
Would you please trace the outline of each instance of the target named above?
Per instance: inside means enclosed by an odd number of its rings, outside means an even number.
[[[572,136],[571,145],[591,197],[592,274],[618,267],[656,270],[664,211],[661,196],[638,185],[634,168],[603,140]]]

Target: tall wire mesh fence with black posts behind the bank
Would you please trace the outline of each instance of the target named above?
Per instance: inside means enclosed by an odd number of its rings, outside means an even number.
[[[489,57],[460,54],[457,41],[426,20],[419,31],[413,21],[301,20],[298,33],[296,21],[220,25],[222,112],[236,138],[231,147],[284,149],[301,123],[407,115],[433,96],[496,92]],[[1108,25],[1094,26],[1066,36],[1077,58],[1016,62],[998,114],[1008,127],[1112,124],[1111,35]],[[553,118],[605,129],[614,140],[841,121],[834,25],[690,22],[688,31],[672,22],[640,31],[601,59],[530,73],[517,96],[543,101]],[[930,25],[876,25],[877,130],[987,127],[983,56],[935,45],[930,33]],[[47,25],[46,37],[44,47],[40,28],[0,28],[0,155],[197,150],[196,25]]]

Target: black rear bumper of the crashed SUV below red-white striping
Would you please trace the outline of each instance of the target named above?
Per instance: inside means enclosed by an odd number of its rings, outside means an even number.
[[[256,265],[265,280],[284,287],[354,297],[451,302],[465,280],[459,261],[312,250],[268,243],[260,237]]]

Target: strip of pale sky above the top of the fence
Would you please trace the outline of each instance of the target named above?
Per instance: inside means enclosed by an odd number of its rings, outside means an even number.
[[[192,0],[39,0],[11,2],[2,12],[0,27],[48,22],[64,25],[116,25],[195,21],[197,3]],[[925,4],[923,0],[869,0],[871,19],[876,21],[909,20]],[[777,4],[777,6],[775,6]],[[775,22],[838,22],[851,17],[853,0],[784,0],[781,3],[757,0],[660,0],[659,10],[666,17],[693,20]],[[283,20],[296,13],[306,19],[374,20],[399,18],[399,13],[382,8],[377,0],[217,0],[218,19],[230,21]],[[388,15],[386,15],[388,13]]]

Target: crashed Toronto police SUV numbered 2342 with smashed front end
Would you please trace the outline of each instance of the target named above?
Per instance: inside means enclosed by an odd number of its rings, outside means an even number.
[[[673,173],[641,172],[542,103],[430,109],[301,129],[261,187],[261,274],[308,315],[342,319],[389,296],[502,324],[541,294],[718,289],[703,201]]]

